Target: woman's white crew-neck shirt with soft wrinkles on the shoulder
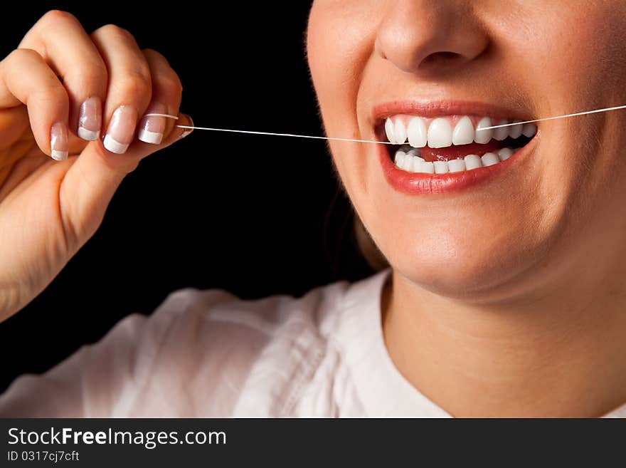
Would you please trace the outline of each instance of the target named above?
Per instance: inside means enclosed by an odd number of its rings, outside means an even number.
[[[16,417],[450,417],[396,369],[381,327],[389,271],[302,298],[171,294],[0,396]],[[607,417],[626,417],[626,405]]]

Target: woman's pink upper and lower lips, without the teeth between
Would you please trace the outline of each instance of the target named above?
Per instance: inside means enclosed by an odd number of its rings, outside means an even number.
[[[381,128],[383,120],[390,115],[414,114],[422,117],[437,117],[440,115],[486,115],[492,118],[509,118],[531,120],[528,114],[520,113],[519,110],[487,105],[484,103],[472,103],[467,101],[440,101],[433,103],[416,103],[409,101],[396,101],[377,105],[373,110],[373,119],[376,123],[376,132],[379,137],[384,135]],[[382,135],[381,135],[382,131]],[[410,195],[419,194],[446,194],[458,192],[478,184],[493,180],[498,175],[511,169],[518,162],[526,159],[536,145],[539,133],[528,143],[509,157],[508,160],[499,162],[489,167],[464,172],[449,172],[447,174],[424,174],[420,172],[406,172],[398,169],[389,157],[387,145],[378,145],[378,156],[383,167],[383,173],[387,182],[396,189]]]

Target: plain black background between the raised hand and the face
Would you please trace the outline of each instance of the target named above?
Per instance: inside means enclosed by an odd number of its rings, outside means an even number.
[[[49,9],[117,24],[166,56],[196,125],[322,135],[304,51],[309,1],[23,1],[1,56]],[[100,230],[41,296],[0,324],[0,390],[151,313],[177,288],[300,295],[371,271],[322,141],[196,131],[144,160]],[[1,261],[1,259],[0,259]]]

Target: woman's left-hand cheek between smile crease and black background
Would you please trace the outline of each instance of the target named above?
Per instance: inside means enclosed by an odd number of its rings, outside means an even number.
[[[361,139],[359,90],[373,53],[379,0],[315,1],[309,15],[307,54],[326,135]],[[369,145],[329,142],[349,194],[361,191]],[[353,198],[354,199],[354,198]]]

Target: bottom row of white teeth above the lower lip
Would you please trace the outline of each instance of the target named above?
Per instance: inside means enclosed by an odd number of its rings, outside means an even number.
[[[445,174],[446,172],[463,172],[498,164],[499,162],[508,160],[509,157],[514,155],[519,149],[520,148],[505,147],[497,152],[486,152],[482,157],[478,155],[467,155],[463,159],[429,162],[418,156],[418,150],[402,147],[400,150],[396,151],[394,162],[398,169],[406,172]]]

